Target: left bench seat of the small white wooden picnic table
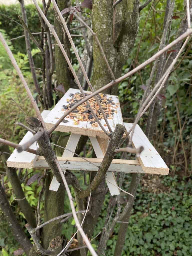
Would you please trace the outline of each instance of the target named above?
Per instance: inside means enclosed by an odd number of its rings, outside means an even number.
[[[41,115],[44,119],[48,114],[50,110],[43,110]],[[20,141],[19,145],[23,145],[27,141],[29,141],[33,137],[33,133],[27,132],[23,139]],[[33,143],[29,148],[31,149],[37,149],[38,144],[36,142]],[[18,153],[18,151],[15,149],[13,153],[9,156],[7,159],[7,166],[8,167],[16,167],[16,168],[27,168],[31,169],[33,168],[33,164],[37,159],[37,155],[22,151],[21,153]]]

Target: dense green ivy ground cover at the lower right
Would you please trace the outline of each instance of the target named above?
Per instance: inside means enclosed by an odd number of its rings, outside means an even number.
[[[151,178],[149,181],[154,183],[154,180]],[[145,182],[147,180],[143,179],[142,185]],[[125,190],[128,190],[128,184],[129,181]],[[149,186],[138,187],[122,256],[192,254],[191,180],[183,179],[179,182],[177,175],[162,176],[158,184],[162,190],[157,188],[152,191]],[[109,198],[105,199],[94,236],[104,225]],[[106,256],[113,255],[119,225],[116,224],[107,243],[104,251]]]

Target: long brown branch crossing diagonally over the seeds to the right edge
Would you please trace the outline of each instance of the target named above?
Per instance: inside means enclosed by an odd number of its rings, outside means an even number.
[[[168,44],[167,46],[165,46],[162,50],[158,51],[156,54],[154,54],[151,58],[149,58],[148,60],[144,61],[142,64],[140,64],[139,66],[137,66],[136,68],[132,69],[130,72],[124,74],[123,76],[117,78],[115,81],[112,81],[108,84],[106,84],[105,86],[103,86],[102,88],[98,89],[97,91],[89,94],[88,96],[86,96],[86,98],[82,99],[81,101],[79,101],[77,104],[75,104],[74,106],[72,106],[70,108],[70,110],[66,111],[61,118],[57,121],[56,124],[54,124],[52,126],[52,128],[49,130],[49,133],[51,134],[56,128],[57,126],[63,121],[63,119],[69,115],[74,109],[76,109],[79,105],[83,104],[85,101],[91,99],[92,97],[94,97],[95,95],[101,93],[102,91],[105,91],[106,89],[114,86],[115,84],[120,83],[121,81],[123,81],[124,79],[126,79],[127,77],[130,77],[132,74],[136,73],[137,71],[139,71],[140,69],[144,68],[145,66],[147,66],[148,64],[150,64],[151,62],[153,62],[154,60],[156,60],[157,57],[159,57],[162,53],[164,53],[165,51],[167,51],[169,48],[173,47],[174,45],[176,45],[178,42],[182,41],[184,38],[186,38],[187,36],[189,36],[190,34],[192,34],[192,29],[188,29],[185,33],[183,33],[181,36],[179,36],[178,38],[176,38],[173,42],[171,42],[170,44]]]

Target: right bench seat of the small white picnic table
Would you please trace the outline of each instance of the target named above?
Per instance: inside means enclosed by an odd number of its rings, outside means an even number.
[[[129,131],[133,124],[124,123],[124,125],[126,130]],[[138,124],[134,130],[132,146],[134,148],[138,148],[140,146],[144,147],[144,150],[140,154],[139,162],[145,173],[168,175],[169,168]]]

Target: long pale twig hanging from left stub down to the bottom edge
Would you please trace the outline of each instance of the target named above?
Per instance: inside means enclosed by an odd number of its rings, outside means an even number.
[[[33,1],[34,1],[34,0],[33,0]],[[71,195],[71,191],[70,191],[70,189],[69,189],[69,187],[68,187],[67,181],[66,181],[66,179],[65,179],[65,175],[63,174],[63,171],[62,171],[62,169],[61,169],[61,166],[60,166],[60,164],[59,164],[59,161],[58,161],[57,159],[55,159],[55,163],[57,164],[57,167],[58,167],[59,172],[60,172],[60,174],[61,174],[61,178],[62,178],[63,183],[64,183],[64,185],[65,185],[65,189],[66,189],[66,191],[67,191],[67,194],[68,194],[68,197],[69,197],[70,206],[71,206],[71,210],[72,210],[72,213],[73,213],[73,218],[74,218],[74,220],[75,220],[76,226],[77,226],[77,228],[78,228],[78,230],[79,230],[79,232],[80,232],[80,234],[81,234],[81,236],[82,236],[84,242],[86,243],[88,249],[90,250],[91,254],[92,254],[93,256],[98,256],[97,253],[95,252],[95,250],[93,249],[93,247],[91,246],[91,243],[90,243],[88,237],[87,237],[86,234],[84,233],[84,231],[83,231],[83,229],[82,229],[82,227],[81,227],[81,225],[80,225],[80,223],[79,223],[79,220],[78,220],[77,214],[76,214],[76,210],[75,210],[75,207],[74,207],[74,204],[73,204],[73,200],[74,200],[74,199],[73,199],[73,197],[72,197],[72,195]],[[61,254],[61,253],[59,253],[57,256],[59,256],[60,254]]]

